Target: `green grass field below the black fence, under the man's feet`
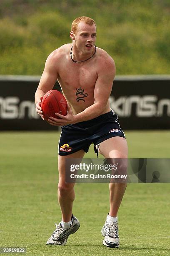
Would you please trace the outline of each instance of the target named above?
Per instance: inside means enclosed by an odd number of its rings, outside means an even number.
[[[170,255],[169,184],[128,184],[119,210],[120,248],[102,245],[108,184],[76,184],[80,229],[66,246],[45,243],[60,221],[55,132],[0,133],[0,246],[26,255]],[[170,131],[127,131],[129,157],[170,157]],[[85,157],[94,157],[93,147]],[[11,254],[10,254],[11,255]]]

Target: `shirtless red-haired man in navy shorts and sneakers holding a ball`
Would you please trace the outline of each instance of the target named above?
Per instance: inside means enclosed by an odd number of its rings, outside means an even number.
[[[99,151],[105,158],[128,156],[124,133],[109,103],[115,63],[104,50],[95,46],[95,21],[88,17],[76,18],[70,37],[72,44],[65,44],[48,56],[35,93],[36,110],[42,119],[42,97],[52,90],[56,80],[68,103],[66,116],[56,113],[56,118],[48,120],[51,125],[62,126],[58,156],[58,202],[62,221],[55,224],[48,245],[65,245],[68,236],[80,227],[79,220],[72,214],[74,184],[65,183],[65,159],[82,159],[91,143],[95,145],[95,152]],[[60,150],[65,143],[71,151]],[[109,185],[110,211],[102,227],[103,244],[108,247],[119,247],[117,212],[125,188],[126,184],[122,183]]]

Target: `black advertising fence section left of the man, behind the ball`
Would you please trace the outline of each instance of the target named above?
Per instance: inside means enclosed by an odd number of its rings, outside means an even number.
[[[0,130],[57,130],[35,111],[34,95],[40,77],[0,77]],[[58,85],[54,89],[60,90]]]

